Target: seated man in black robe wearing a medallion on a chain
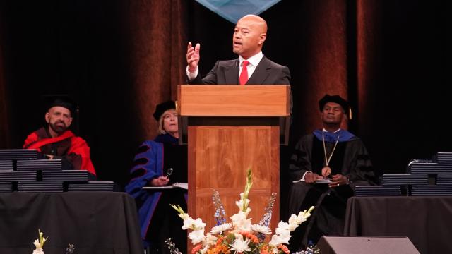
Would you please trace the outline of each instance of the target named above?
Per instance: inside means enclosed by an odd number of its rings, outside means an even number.
[[[340,128],[349,104],[338,95],[319,101],[323,129],[302,137],[290,157],[289,214],[314,205],[309,222],[292,233],[290,249],[299,250],[322,235],[342,235],[347,199],[358,185],[372,185],[375,174],[362,140]],[[330,183],[326,180],[331,180]]]

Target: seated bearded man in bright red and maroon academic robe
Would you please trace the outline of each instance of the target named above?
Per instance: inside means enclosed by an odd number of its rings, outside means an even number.
[[[83,169],[96,175],[90,159],[90,147],[69,126],[76,107],[67,96],[54,96],[47,102],[47,125],[28,135],[24,149],[36,149],[47,159],[61,159],[63,169]]]

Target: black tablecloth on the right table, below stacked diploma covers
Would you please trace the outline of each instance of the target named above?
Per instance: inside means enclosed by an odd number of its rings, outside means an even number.
[[[346,236],[408,236],[422,254],[452,253],[452,196],[354,197]]]

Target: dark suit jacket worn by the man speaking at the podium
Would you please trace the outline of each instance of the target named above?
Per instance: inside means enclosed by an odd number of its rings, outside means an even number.
[[[217,61],[206,77],[198,76],[189,84],[207,85],[238,85],[239,59]],[[290,71],[286,66],[279,65],[263,56],[253,75],[249,77],[249,85],[290,85]]]

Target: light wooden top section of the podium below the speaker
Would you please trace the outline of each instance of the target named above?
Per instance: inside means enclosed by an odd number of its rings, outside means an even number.
[[[178,85],[180,116],[290,116],[289,85]]]

